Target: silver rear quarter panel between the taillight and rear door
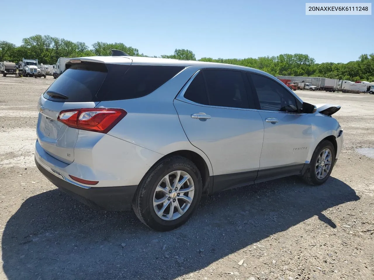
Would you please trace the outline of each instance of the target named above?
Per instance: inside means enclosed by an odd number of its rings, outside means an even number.
[[[208,157],[188,141],[173,105],[174,98],[196,71],[196,67],[187,67],[144,97],[100,102],[96,108],[122,108],[127,112],[108,134],[162,155],[178,150],[196,152],[205,160],[209,175],[213,175]]]

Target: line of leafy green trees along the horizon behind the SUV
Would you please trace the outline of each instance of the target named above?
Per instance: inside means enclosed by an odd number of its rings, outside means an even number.
[[[123,43],[96,42],[91,47],[84,42],[73,42],[49,35],[33,35],[22,39],[21,46],[0,40],[0,61],[19,62],[22,58],[38,59],[39,63],[55,64],[59,57],[107,56],[111,49],[122,50],[131,56],[147,56],[134,47]],[[157,56],[151,56],[157,57]],[[176,49],[162,58],[196,60],[191,50]],[[358,60],[348,63],[315,63],[309,55],[296,53],[244,59],[213,59],[203,57],[200,61],[242,65],[263,70],[272,75],[325,77],[350,81],[374,81],[374,53],[362,54]]]

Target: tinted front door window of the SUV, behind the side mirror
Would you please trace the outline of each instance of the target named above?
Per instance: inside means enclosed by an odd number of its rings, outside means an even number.
[[[261,110],[295,112],[296,109],[297,111],[295,97],[282,85],[262,75],[249,73],[248,75],[252,77]]]

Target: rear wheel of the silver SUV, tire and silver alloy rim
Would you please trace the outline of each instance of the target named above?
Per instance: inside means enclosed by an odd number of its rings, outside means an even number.
[[[132,208],[148,227],[169,231],[187,222],[196,211],[201,193],[202,179],[196,165],[187,158],[172,156],[147,172]]]

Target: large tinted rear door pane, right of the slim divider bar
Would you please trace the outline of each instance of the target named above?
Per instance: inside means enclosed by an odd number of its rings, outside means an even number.
[[[209,105],[249,108],[245,84],[240,71],[205,70]]]

